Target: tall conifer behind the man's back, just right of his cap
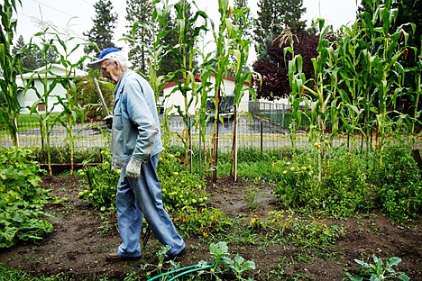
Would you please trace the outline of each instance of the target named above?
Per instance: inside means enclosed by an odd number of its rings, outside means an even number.
[[[132,32],[133,24],[139,23],[134,34],[134,41],[130,41],[129,60],[132,68],[142,74],[148,73],[146,57],[148,56],[148,46],[151,46],[151,30],[148,28],[151,23],[151,13],[153,7],[148,0],[127,0],[126,20],[129,22],[129,34]]]

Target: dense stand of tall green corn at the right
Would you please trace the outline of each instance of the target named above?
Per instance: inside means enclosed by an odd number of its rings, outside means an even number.
[[[313,59],[313,88],[304,83],[305,77],[292,80],[291,77],[300,77],[300,69],[289,68],[293,92],[311,98],[312,128],[317,130],[314,141],[326,138],[327,123],[332,126],[329,138],[333,140],[341,119],[349,134],[355,130],[362,132],[366,140],[362,146],[366,146],[368,155],[373,128],[376,148],[383,150],[392,129],[398,128],[400,121],[407,118],[396,110],[396,104],[405,94],[404,75],[411,71],[400,64],[400,59],[406,59],[409,34],[404,26],[390,33],[390,26],[398,14],[390,7],[391,1],[386,1],[385,5],[376,1],[373,16],[362,13],[358,22],[351,28],[342,28],[339,38],[333,42],[326,41],[327,29],[319,22],[322,32],[319,55]],[[414,24],[409,25],[414,31]],[[414,115],[417,116],[417,111]],[[312,141],[312,130],[310,137]],[[321,141],[323,150],[324,143]]]

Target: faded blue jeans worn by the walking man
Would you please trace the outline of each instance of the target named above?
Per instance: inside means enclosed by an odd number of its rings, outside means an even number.
[[[120,256],[141,256],[142,215],[155,238],[171,247],[168,255],[177,255],[186,246],[162,204],[161,184],[156,172],[158,159],[156,154],[142,164],[140,178],[125,177],[126,168],[122,168],[115,196],[117,222],[123,241],[117,249]]]

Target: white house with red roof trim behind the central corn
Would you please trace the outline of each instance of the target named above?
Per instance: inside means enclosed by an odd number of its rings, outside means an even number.
[[[201,77],[199,75],[195,75],[195,81],[197,84],[201,83]],[[216,77],[213,75],[211,76],[211,88],[208,92],[208,107],[210,104],[213,104],[210,98],[214,97],[214,85],[216,83]],[[249,88],[250,84],[247,81],[243,82],[243,88]],[[234,99],[234,78],[233,77],[224,77],[224,82],[222,86],[222,92],[225,93],[223,99],[227,101],[231,101],[233,103]],[[188,99],[191,97],[190,93],[188,94]],[[198,97],[199,101],[196,105],[195,102],[190,105],[188,108],[188,113],[194,114],[195,110],[199,106],[200,103],[200,96]],[[238,112],[248,112],[248,104],[250,99],[249,91],[245,91],[242,97],[242,100],[237,108]],[[163,86],[163,95],[161,96],[161,103],[164,110],[169,110],[169,113],[179,114],[178,110],[175,106],[180,106],[180,110],[185,112],[185,104],[184,104],[184,97],[182,93],[177,89],[177,84],[175,82],[169,82],[165,86]],[[214,106],[214,104],[213,104]],[[230,107],[230,105],[225,106],[225,108]]]

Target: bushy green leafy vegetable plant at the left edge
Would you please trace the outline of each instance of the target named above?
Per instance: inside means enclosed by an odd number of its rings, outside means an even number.
[[[41,169],[32,160],[32,150],[0,149],[0,248],[19,240],[41,240],[53,231],[42,211],[48,202]]]

